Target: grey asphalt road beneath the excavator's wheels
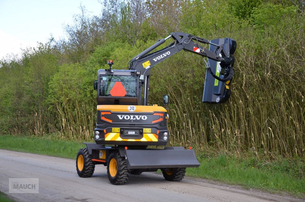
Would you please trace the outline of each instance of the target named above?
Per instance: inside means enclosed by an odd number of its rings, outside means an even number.
[[[39,193],[9,193],[9,178],[39,178]],[[200,179],[168,182],[148,172],[115,186],[103,165],[80,178],[75,160],[7,150],[0,150],[0,191],[16,201],[304,201]]]

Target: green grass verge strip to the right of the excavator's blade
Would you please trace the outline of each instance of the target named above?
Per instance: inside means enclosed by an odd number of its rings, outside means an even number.
[[[290,162],[287,165],[287,160],[263,163],[253,161],[253,158],[239,159],[227,155],[200,158],[199,161],[200,167],[187,168],[187,175],[242,185],[248,189],[285,191],[299,197],[305,196],[304,173],[299,173],[295,168],[300,164],[305,166],[304,163]],[[291,169],[287,169],[289,166]]]

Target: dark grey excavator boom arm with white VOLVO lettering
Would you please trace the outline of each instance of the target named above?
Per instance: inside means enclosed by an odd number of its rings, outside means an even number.
[[[153,50],[157,49],[160,45],[162,45],[167,39],[172,38],[174,39],[174,42],[172,42],[170,45],[167,45],[165,48],[152,52]],[[162,62],[163,60],[167,59],[170,56],[173,56],[175,53],[180,52],[181,50],[192,52],[197,55],[206,57],[208,59],[211,59],[213,61],[219,62],[219,65],[221,68],[223,68],[227,72],[226,79],[220,78],[219,74],[217,76],[216,70],[214,70],[215,73],[213,73],[213,70],[210,69],[208,63],[207,64],[207,71],[213,76],[213,78],[226,82],[228,80],[231,81],[233,77],[233,69],[232,66],[234,64],[234,57],[233,53],[236,49],[236,42],[234,39],[231,38],[221,38],[219,40],[213,40],[218,41],[218,44],[212,43],[211,41],[208,41],[207,39],[200,38],[191,34],[186,34],[184,32],[173,32],[168,37],[163,38],[159,41],[157,41],[154,45],[149,47],[148,49],[144,50],[137,56],[135,56],[131,61],[129,65],[129,70],[136,70],[138,74],[140,74],[140,80],[145,81],[145,90],[144,90],[144,98],[142,105],[148,104],[148,92],[149,92],[149,74],[152,67],[154,67],[156,64]],[[209,44],[210,50],[204,48],[200,45],[202,44]],[[213,47],[213,51],[211,49]],[[218,63],[217,63],[218,65]],[[216,65],[216,66],[217,66]],[[226,87],[228,89],[228,87]],[[218,93],[216,94],[222,94],[220,91],[224,91],[224,85],[222,86],[222,90],[218,90]],[[139,87],[139,93],[142,92],[142,85]],[[220,93],[219,93],[220,92]],[[214,98],[213,98],[214,99]],[[221,99],[221,98],[220,98]],[[220,100],[218,98],[218,100]],[[214,100],[217,100],[216,98]],[[225,99],[226,101],[227,99]],[[217,101],[207,101],[209,103],[218,103]]]

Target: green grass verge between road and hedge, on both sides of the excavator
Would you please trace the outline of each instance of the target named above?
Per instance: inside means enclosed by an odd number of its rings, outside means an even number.
[[[85,145],[77,141],[2,135],[0,148],[20,152],[44,154],[74,159],[77,151]],[[199,168],[187,168],[186,175],[212,179],[245,188],[267,191],[285,191],[305,197],[305,162],[301,159],[258,161],[254,157],[236,158],[229,155],[205,157],[197,155]]]

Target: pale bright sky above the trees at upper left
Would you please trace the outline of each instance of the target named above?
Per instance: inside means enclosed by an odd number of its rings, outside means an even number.
[[[65,24],[73,24],[80,5],[99,15],[98,0],[0,0],[0,60],[21,53],[26,47],[46,43],[51,36],[66,38]]]

